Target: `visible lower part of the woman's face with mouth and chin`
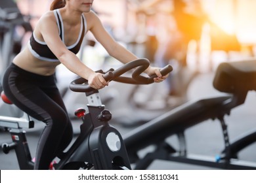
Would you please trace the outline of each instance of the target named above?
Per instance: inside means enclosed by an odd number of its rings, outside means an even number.
[[[81,12],[89,12],[93,5],[94,0],[68,0],[66,1],[68,6],[80,10]]]

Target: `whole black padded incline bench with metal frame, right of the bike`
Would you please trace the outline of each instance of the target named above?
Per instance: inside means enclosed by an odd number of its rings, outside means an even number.
[[[134,169],[147,169],[156,159],[216,169],[256,169],[255,161],[242,161],[238,157],[239,152],[256,142],[256,129],[230,141],[224,121],[224,116],[228,116],[233,108],[244,104],[247,92],[256,90],[256,62],[221,63],[213,86],[226,94],[185,103],[123,135]],[[188,152],[184,132],[194,125],[215,119],[222,127],[224,149],[216,157]],[[178,148],[167,141],[173,135],[179,139]],[[139,152],[149,146],[154,146],[154,149],[140,156]]]

